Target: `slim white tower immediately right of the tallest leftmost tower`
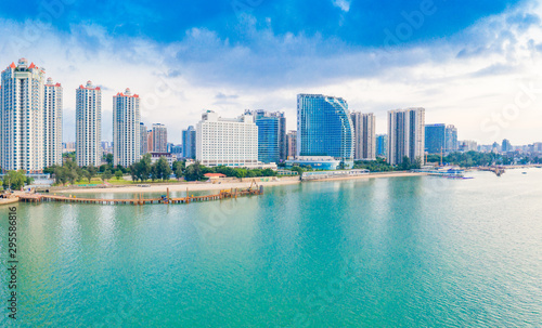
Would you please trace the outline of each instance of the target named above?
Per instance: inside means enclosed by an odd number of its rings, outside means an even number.
[[[44,88],[44,115],[43,129],[46,143],[44,147],[44,167],[53,165],[62,166],[62,86],[53,83],[53,79],[47,79]]]

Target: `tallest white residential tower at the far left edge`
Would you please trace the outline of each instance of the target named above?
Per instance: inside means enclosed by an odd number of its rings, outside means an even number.
[[[44,70],[25,58],[2,71],[0,166],[39,173],[46,167]]]

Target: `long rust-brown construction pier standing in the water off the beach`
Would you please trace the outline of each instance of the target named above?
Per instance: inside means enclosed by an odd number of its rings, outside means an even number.
[[[147,204],[190,204],[202,202],[210,200],[221,200],[227,198],[237,198],[250,195],[262,195],[263,186],[259,188],[247,189],[225,189],[220,191],[220,194],[205,195],[205,196],[190,196],[186,191],[186,197],[170,198],[169,188],[167,195],[159,198],[143,198],[142,194],[132,199],[105,199],[105,198],[86,198],[75,196],[56,196],[56,195],[42,195],[42,194],[28,194],[18,196],[18,200],[23,202],[46,202],[46,201],[60,201],[60,202],[78,202],[78,204],[98,204],[98,205],[147,205]]]

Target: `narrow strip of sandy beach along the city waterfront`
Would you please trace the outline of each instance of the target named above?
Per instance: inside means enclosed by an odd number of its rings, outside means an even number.
[[[373,178],[401,178],[401,176],[422,176],[427,175],[427,173],[422,172],[375,172],[364,175],[357,176],[339,176],[331,179],[320,179],[311,180],[308,182],[325,182],[325,181],[343,181],[343,180],[360,180],[360,179],[373,179]],[[298,176],[281,178],[279,181],[256,181],[259,186],[282,186],[282,185],[293,185],[299,184],[301,181]],[[179,184],[164,184],[164,185],[151,185],[150,187],[140,187],[137,185],[129,185],[124,187],[108,187],[108,188],[68,188],[61,191],[50,191],[49,194],[145,194],[145,193],[166,193],[169,192],[209,192],[209,191],[221,191],[221,189],[234,189],[234,188],[248,188],[251,181],[244,182],[222,182],[218,183],[179,183]]]

